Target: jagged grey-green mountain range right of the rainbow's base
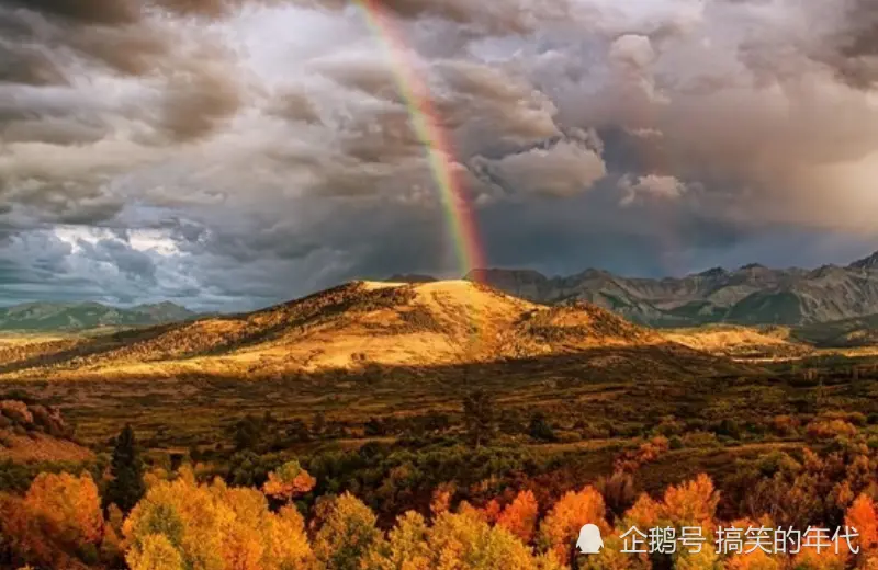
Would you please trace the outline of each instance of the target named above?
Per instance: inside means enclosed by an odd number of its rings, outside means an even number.
[[[878,314],[878,252],[846,267],[721,267],[682,278],[629,278],[587,270],[567,277],[476,270],[468,280],[536,303],[585,300],[641,324],[799,326]]]

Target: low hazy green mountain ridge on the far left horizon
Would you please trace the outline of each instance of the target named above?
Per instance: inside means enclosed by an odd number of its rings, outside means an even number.
[[[0,330],[72,331],[99,327],[143,327],[194,316],[189,309],[167,301],[124,309],[99,303],[29,303],[0,307]]]

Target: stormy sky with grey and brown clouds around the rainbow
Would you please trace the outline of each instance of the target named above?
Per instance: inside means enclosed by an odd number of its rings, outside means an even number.
[[[0,305],[878,250],[874,0],[0,0]]]

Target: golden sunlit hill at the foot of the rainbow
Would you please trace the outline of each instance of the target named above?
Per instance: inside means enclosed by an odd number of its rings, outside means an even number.
[[[282,376],[585,353],[606,365],[619,360],[606,351],[624,350],[675,367],[717,362],[586,303],[537,305],[468,281],[356,282],[256,312],[0,350],[0,374]]]

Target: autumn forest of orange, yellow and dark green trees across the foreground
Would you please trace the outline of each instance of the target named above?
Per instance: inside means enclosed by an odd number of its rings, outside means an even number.
[[[708,421],[678,412],[616,431],[540,411],[513,421],[477,389],[457,413],[369,417],[358,426],[324,413],[247,413],[227,422],[227,445],[176,451],[162,440],[173,434],[138,437],[147,432],[123,425],[105,452],[80,460],[0,464],[0,562],[32,570],[875,568],[878,415],[853,411],[869,409],[873,379],[834,369],[787,378],[803,403],[788,397],[774,412],[791,413],[758,418],[730,408]],[[748,384],[768,407],[769,384]],[[21,391],[2,399],[0,421],[34,445],[76,441],[57,409]],[[601,531],[597,555],[577,555],[585,524]],[[723,527],[812,526],[830,535],[854,528],[855,545],[770,555],[718,548]],[[705,543],[697,554],[623,554],[632,527],[675,536],[698,527]]]

